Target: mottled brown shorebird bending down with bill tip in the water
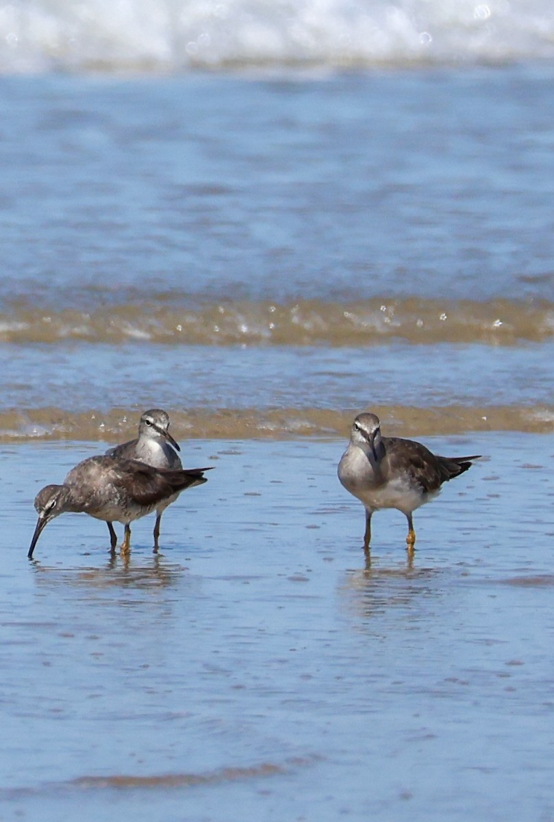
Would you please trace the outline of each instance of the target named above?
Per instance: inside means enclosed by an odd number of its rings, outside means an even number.
[[[150,514],[185,488],[205,483],[204,472],[208,470],[156,469],[137,459],[109,455],[83,459],[67,474],[62,485],[47,485],[37,494],[35,508],[39,520],[27,556],[32,558],[44,526],[67,511],[124,524],[121,551],[127,553],[131,541],[130,523]],[[111,544],[114,551],[113,540]]]

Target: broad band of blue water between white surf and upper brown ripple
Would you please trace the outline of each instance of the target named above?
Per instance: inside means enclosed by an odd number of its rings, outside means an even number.
[[[552,298],[552,79],[2,78],[0,294]]]

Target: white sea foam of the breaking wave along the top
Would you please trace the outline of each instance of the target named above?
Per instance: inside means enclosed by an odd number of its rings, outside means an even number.
[[[552,0],[12,0],[0,72],[554,57]]]

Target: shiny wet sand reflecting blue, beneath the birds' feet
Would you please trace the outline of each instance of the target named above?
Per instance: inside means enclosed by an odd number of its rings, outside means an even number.
[[[197,441],[209,483],[132,529],[32,499],[98,443],[3,445],[0,818],[549,819],[554,436],[405,520],[339,486],[344,441]],[[121,529],[120,529],[121,530]]]

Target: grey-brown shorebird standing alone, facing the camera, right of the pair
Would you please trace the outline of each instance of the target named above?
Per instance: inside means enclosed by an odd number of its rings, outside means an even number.
[[[442,483],[471,468],[471,457],[441,457],[420,442],[399,436],[381,436],[381,423],[374,413],[361,413],[354,420],[348,448],[339,462],[339,480],[366,509],[363,548],[369,553],[372,514],[381,508],[396,508],[408,520],[406,543],[413,552],[415,531],[412,513],[441,492]]]

